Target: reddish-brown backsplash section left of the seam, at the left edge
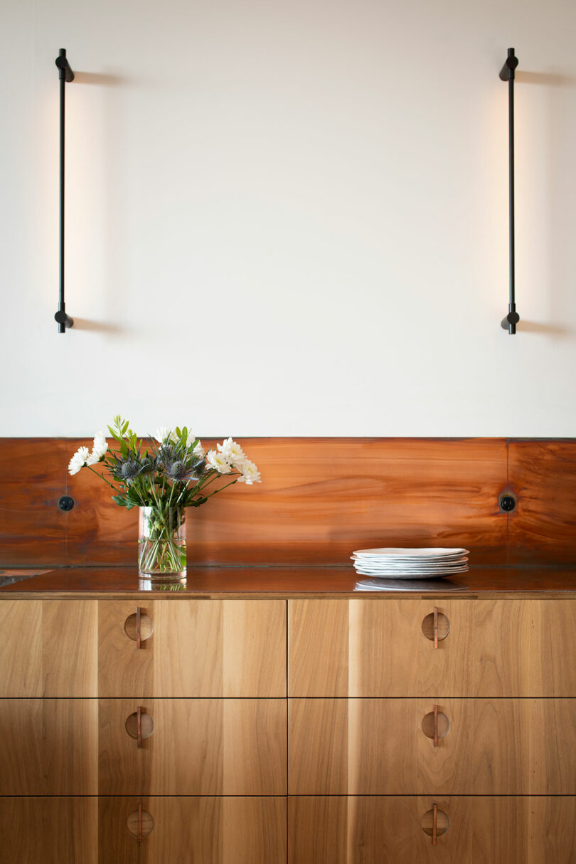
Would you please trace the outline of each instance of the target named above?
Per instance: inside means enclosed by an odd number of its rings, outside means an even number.
[[[66,562],[66,442],[0,438],[0,561],[3,567]]]

